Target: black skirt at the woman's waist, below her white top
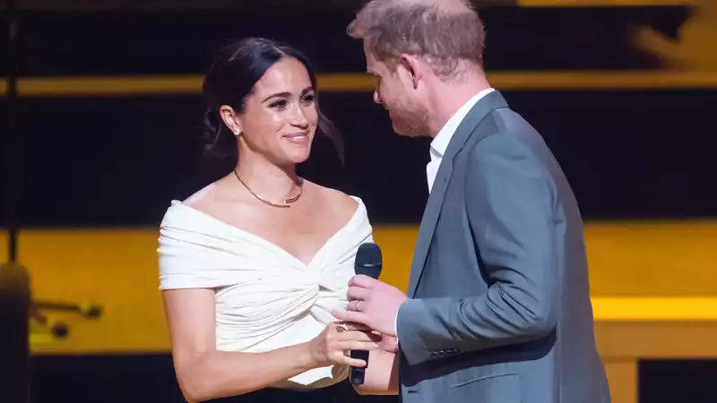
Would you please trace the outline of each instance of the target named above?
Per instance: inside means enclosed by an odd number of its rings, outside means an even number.
[[[318,390],[284,390],[266,388],[231,398],[213,399],[221,403],[353,403],[358,399],[349,381]]]

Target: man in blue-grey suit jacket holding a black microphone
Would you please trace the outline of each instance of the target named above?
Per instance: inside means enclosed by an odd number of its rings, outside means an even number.
[[[335,315],[397,337],[404,402],[609,402],[580,212],[540,134],[490,88],[478,14],[373,0],[349,33],[393,130],[433,141],[408,299],[357,276]],[[379,358],[368,389],[396,383]]]

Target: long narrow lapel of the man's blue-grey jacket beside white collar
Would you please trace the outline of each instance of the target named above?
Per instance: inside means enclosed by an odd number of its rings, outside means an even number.
[[[436,180],[433,183],[433,188],[430,195],[428,196],[428,202],[426,204],[426,210],[423,211],[423,218],[420,222],[419,236],[416,240],[416,248],[413,253],[413,262],[410,268],[410,279],[407,295],[413,297],[416,293],[416,288],[419,285],[421,274],[426,266],[426,258],[428,256],[428,250],[430,248],[431,241],[433,240],[434,233],[436,232],[436,223],[440,216],[441,207],[445,199],[445,192],[448,189],[448,183],[451,179],[451,174],[454,170],[454,159],[458,154],[458,151],[462,150],[465,142],[471,137],[471,133],[478,124],[488,114],[498,108],[507,107],[507,103],[503,96],[498,91],[490,92],[483,99],[480,99],[475,106],[471,108],[468,115],[463,118],[458,129],[456,129],[451,141],[448,143],[448,148],[445,150],[445,155],[441,161],[438,172],[436,173]],[[488,133],[483,133],[486,135]],[[480,135],[480,134],[479,134]]]

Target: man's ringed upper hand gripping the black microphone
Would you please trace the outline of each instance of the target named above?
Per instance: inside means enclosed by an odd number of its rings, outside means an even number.
[[[349,281],[349,310],[333,312],[340,321],[367,325],[387,336],[396,335],[396,314],[406,296],[396,287],[359,274]]]

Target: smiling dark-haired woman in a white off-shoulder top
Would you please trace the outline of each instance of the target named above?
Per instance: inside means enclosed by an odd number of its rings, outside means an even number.
[[[348,350],[378,347],[331,315],[346,308],[358,245],[372,240],[366,208],[296,173],[317,128],[338,141],[315,88],[307,58],[267,39],[223,48],[207,73],[212,146],[238,162],[172,201],[160,229],[160,288],[189,401],[349,401],[348,365],[366,363]]]

